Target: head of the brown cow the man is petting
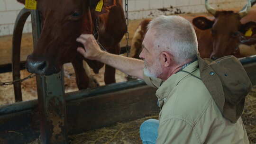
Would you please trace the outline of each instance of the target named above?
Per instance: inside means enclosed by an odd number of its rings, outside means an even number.
[[[106,13],[91,10],[100,0],[37,0],[42,32],[32,54],[27,57],[27,70],[50,75],[77,55],[76,38],[92,33],[92,17]],[[25,0],[18,0],[25,4]]]

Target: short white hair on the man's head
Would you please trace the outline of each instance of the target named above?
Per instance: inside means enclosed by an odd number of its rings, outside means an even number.
[[[196,58],[197,37],[192,24],[185,18],[159,16],[150,21],[147,29],[155,31],[155,49],[173,54],[176,63]]]

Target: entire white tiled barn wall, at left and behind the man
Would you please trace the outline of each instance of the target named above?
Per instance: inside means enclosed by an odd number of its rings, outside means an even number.
[[[213,1],[213,7],[220,9],[241,8],[246,3],[246,0],[211,1]],[[12,34],[15,19],[23,7],[16,0],[0,0],[0,36]],[[205,12],[204,0],[128,0],[128,9],[129,19],[153,18],[163,14]],[[31,31],[31,18],[29,17],[23,33],[31,33]]]

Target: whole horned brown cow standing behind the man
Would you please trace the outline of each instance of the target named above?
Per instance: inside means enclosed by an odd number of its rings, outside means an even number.
[[[195,26],[198,49],[201,56],[203,58],[217,59],[225,55],[233,54],[237,57],[242,57],[238,49],[240,36],[249,28],[252,28],[253,32],[256,31],[256,23],[254,22],[256,21],[256,11],[249,11],[251,8],[250,0],[248,0],[247,6],[239,12],[216,11],[210,7],[208,0],[205,0],[205,7],[210,14],[215,17],[214,20],[210,20],[206,17],[184,17]],[[132,40],[130,54],[132,57],[138,58],[137,56],[141,49],[140,45],[146,33],[146,26],[149,21],[149,19],[144,20],[137,28]]]

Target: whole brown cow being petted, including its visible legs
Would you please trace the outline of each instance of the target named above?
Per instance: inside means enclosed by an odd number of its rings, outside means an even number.
[[[25,0],[18,0],[25,3]],[[89,77],[83,69],[80,46],[76,38],[92,34],[97,28],[98,41],[112,54],[119,54],[119,42],[126,32],[122,0],[103,0],[101,12],[95,10],[100,0],[37,0],[37,9],[42,18],[42,32],[33,53],[27,57],[27,71],[51,75],[60,72],[64,63],[72,62],[76,83],[85,89]],[[84,59],[95,73],[103,63]],[[115,82],[115,69],[106,65],[104,81]]]

